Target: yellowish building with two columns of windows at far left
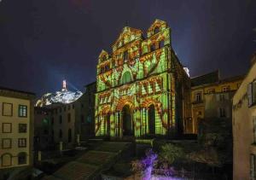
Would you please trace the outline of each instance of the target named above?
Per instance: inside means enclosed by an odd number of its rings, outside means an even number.
[[[34,98],[30,92],[0,87],[0,178],[32,165]]]

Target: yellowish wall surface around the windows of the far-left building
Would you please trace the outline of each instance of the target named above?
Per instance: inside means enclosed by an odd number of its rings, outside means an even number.
[[[8,102],[13,104],[13,116],[3,116],[3,102]],[[18,114],[18,109],[20,105],[26,105],[27,106],[27,117],[26,118],[20,118]],[[0,159],[0,169],[2,168],[9,168],[14,166],[23,166],[18,165],[18,158],[17,155],[20,152],[25,152],[27,154],[26,156],[26,164],[29,165],[30,158],[32,156],[32,153],[30,152],[30,121],[31,121],[31,114],[30,114],[30,101],[29,100],[23,100],[23,99],[17,99],[12,97],[5,97],[0,96],[0,157],[2,157],[3,154],[9,153],[12,155],[11,159],[11,166],[2,166],[2,158]],[[11,133],[3,133],[3,123],[11,123],[12,124],[12,132]],[[26,124],[26,133],[19,133],[19,123]],[[11,138],[12,140],[12,146],[11,148],[3,149],[2,148],[2,141],[3,138]],[[26,138],[26,148],[18,148],[18,138]]]

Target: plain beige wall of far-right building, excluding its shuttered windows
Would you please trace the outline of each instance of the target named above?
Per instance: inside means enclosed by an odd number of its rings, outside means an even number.
[[[256,78],[256,63],[233,97],[233,179],[250,179],[250,154],[256,154],[253,143],[253,117],[256,106],[248,107],[247,86]]]

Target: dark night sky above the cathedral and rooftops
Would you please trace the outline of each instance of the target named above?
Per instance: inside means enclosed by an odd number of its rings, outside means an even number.
[[[125,24],[146,31],[155,19],[172,27],[172,46],[192,76],[247,72],[255,0],[0,0],[0,86],[40,96],[66,78],[83,90]]]

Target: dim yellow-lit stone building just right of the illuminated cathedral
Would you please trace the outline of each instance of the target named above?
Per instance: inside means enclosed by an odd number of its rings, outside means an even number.
[[[215,71],[191,78],[192,129],[197,134],[198,123],[202,119],[232,119],[232,97],[244,76],[219,78]]]

